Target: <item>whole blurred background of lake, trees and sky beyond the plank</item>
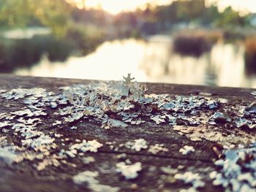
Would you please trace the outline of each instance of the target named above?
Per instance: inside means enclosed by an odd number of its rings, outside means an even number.
[[[0,0],[0,72],[256,88],[256,1]]]

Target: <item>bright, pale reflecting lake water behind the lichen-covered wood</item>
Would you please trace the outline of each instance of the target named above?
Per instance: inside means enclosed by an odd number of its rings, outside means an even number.
[[[148,41],[123,39],[104,42],[94,53],[50,62],[47,57],[30,69],[14,73],[41,77],[121,80],[132,73],[138,81],[256,88],[256,75],[248,76],[244,46],[217,44],[200,58],[173,53],[172,39],[154,36]]]

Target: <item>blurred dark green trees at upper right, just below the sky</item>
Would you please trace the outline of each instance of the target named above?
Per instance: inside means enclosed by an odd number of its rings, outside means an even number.
[[[150,7],[135,12],[135,17],[145,23],[157,23],[165,29],[178,23],[210,28],[237,28],[250,26],[250,15],[241,16],[231,7],[219,12],[216,5],[206,7],[205,0],[173,1],[167,6]]]

